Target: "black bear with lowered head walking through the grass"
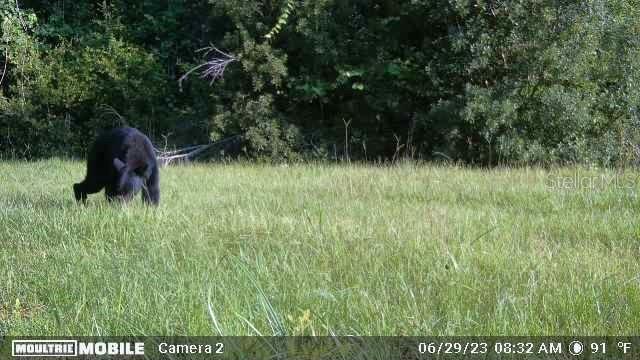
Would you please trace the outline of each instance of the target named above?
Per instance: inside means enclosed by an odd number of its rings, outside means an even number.
[[[160,202],[160,174],[149,138],[137,129],[122,127],[100,135],[89,150],[87,176],[73,185],[76,201],[105,189],[111,200],[131,200],[142,190],[145,203]]]

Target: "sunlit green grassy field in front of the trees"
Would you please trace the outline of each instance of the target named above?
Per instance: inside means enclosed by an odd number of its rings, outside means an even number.
[[[0,334],[637,334],[639,174],[0,162]]]

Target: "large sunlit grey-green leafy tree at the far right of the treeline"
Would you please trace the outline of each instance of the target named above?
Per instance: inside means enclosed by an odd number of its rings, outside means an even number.
[[[465,120],[506,161],[622,161],[637,10],[620,0],[496,4],[466,22]]]

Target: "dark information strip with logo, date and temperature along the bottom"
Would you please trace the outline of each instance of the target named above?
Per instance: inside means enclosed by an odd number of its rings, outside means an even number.
[[[640,337],[4,337],[0,358],[638,359]]]

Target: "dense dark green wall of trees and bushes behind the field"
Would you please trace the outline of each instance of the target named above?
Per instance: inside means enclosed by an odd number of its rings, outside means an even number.
[[[126,122],[158,147],[241,134],[272,159],[626,164],[638,5],[0,0],[0,153],[82,154]],[[209,44],[237,61],[178,86]]]

